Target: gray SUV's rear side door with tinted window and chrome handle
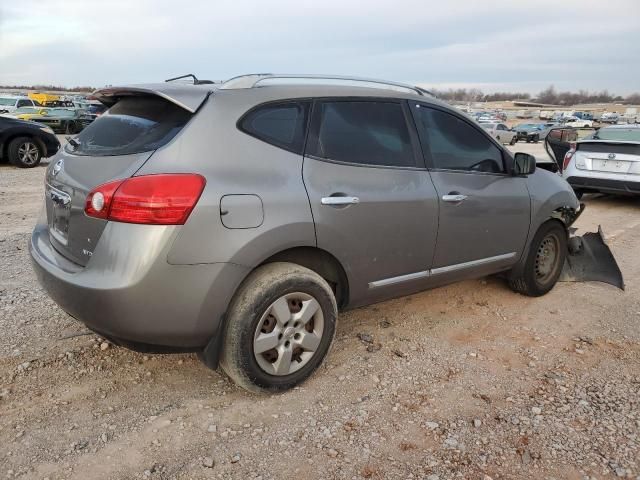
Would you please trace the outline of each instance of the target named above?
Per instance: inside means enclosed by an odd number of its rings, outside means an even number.
[[[318,247],[349,278],[350,304],[419,289],[429,276],[438,200],[403,101],[316,101],[303,178]]]

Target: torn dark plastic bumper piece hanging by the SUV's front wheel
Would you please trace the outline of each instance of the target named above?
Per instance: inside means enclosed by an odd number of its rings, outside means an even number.
[[[569,239],[569,255],[559,281],[602,282],[624,290],[622,272],[600,227],[598,233],[589,232]]]

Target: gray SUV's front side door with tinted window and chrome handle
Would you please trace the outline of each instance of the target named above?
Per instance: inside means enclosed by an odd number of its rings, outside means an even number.
[[[515,263],[529,230],[526,179],[507,173],[502,149],[472,122],[426,104],[411,108],[440,204],[432,274]]]

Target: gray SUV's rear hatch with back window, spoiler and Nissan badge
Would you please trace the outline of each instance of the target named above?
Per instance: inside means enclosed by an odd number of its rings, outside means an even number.
[[[172,97],[152,88],[96,92],[110,109],[67,144],[46,173],[49,237],[60,254],[79,265],[87,264],[107,224],[85,215],[87,195],[98,185],[133,176],[157,149],[169,143],[210,92],[198,88],[197,93],[188,92],[185,103],[181,101],[185,96]]]

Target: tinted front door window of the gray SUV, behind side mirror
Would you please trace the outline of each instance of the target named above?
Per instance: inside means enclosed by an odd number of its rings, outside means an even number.
[[[440,110],[415,104],[412,110],[422,148],[436,168],[504,172],[500,149],[479,129]]]

